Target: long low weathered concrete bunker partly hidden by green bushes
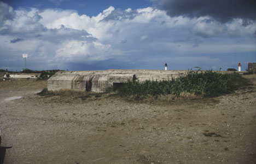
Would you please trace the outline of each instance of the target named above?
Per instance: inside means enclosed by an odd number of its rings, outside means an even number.
[[[218,71],[219,72],[219,71]],[[106,71],[59,71],[48,80],[48,90],[72,89],[104,92],[115,83],[125,83],[133,78],[139,81],[163,80],[186,75],[188,70],[108,69]],[[234,73],[220,71],[219,73]],[[243,72],[240,72],[243,73]]]

